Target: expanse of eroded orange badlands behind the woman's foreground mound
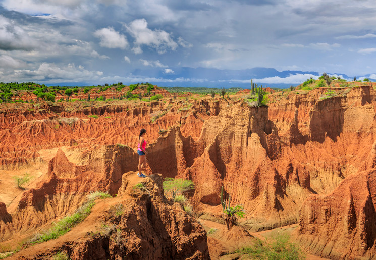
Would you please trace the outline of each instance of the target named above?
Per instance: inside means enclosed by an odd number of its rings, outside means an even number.
[[[243,228],[299,223],[295,237],[309,252],[372,258],[376,184],[368,173],[376,165],[376,94],[370,86],[338,89],[332,98],[327,91],[274,93],[269,107],[259,108],[235,98],[1,105],[0,178],[46,164],[42,150],[63,147],[65,155],[57,152],[34,189],[14,194],[5,211],[0,205],[0,239],[50,225],[90,191],[119,193],[123,174],[137,169],[145,128],[146,173],[192,180],[188,195],[202,218],[221,219],[223,186],[232,205],[244,205]],[[0,189],[10,185],[5,180]],[[360,202],[349,210],[344,198]],[[345,224],[350,215],[356,225]]]

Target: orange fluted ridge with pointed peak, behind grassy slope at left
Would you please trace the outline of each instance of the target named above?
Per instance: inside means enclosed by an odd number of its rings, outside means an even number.
[[[7,219],[12,221],[7,223],[0,219],[0,229],[4,230],[0,239],[7,240],[17,232],[26,232],[73,213],[92,191],[116,194],[123,173],[137,169],[138,164],[132,149],[117,145],[101,146],[90,155],[83,153],[81,156],[80,161],[87,163],[82,166],[70,163],[64,152],[58,150],[49,162],[47,179],[25,191],[21,199],[9,207]]]

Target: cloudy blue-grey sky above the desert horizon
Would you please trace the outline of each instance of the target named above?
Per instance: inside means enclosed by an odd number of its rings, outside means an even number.
[[[375,58],[374,0],[0,0],[2,82],[296,85]]]

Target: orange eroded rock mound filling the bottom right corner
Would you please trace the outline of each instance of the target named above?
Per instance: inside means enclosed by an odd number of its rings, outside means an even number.
[[[294,236],[303,249],[331,259],[376,255],[376,170],[347,177],[328,195],[311,195]]]

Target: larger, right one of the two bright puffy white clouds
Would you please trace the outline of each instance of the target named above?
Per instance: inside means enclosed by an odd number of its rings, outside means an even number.
[[[135,54],[142,53],[141,45],[155,48],[159,54],[163,54],[167,49],[175,50],[178,44],[171,38],[170,34],[163,30],[150,30],[147,28],[145,19],[137,19],[125,25],[128,32],[135,38]]]

